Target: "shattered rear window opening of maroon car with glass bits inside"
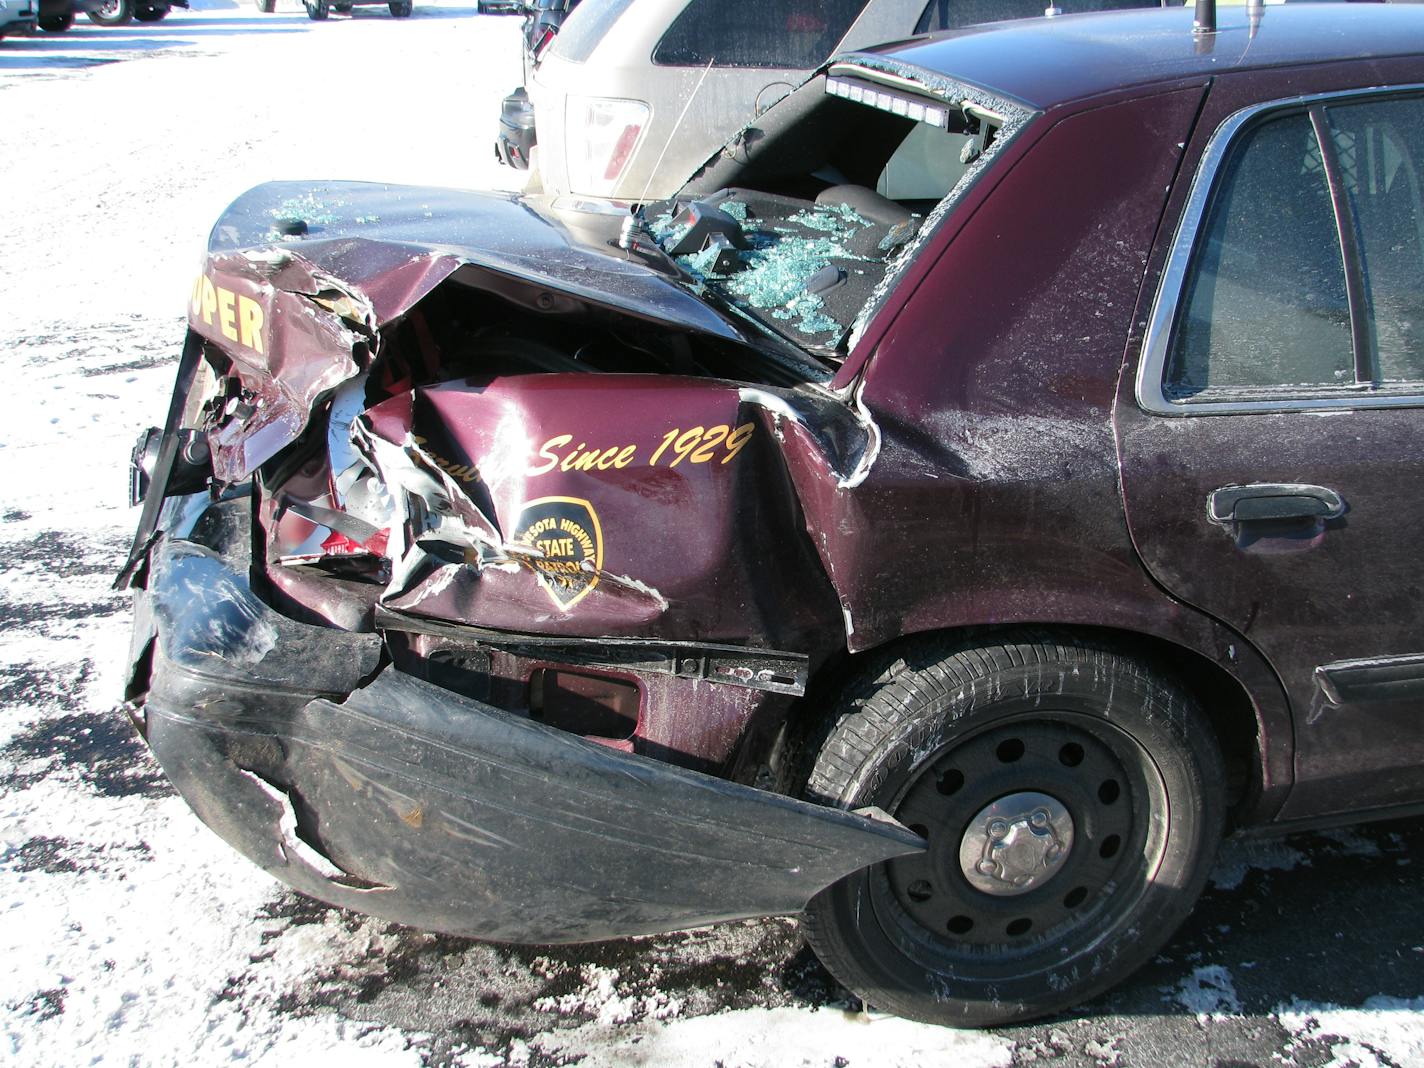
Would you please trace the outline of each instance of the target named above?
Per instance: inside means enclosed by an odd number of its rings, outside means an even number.
[[[752,162],[721,168],[746,185],[679,197],[649,224],[696,292],[833,357],[1005,120],[864,68],[833,67],[797,95],[796,125],[743,131],[756,135],[743,145]],[[758,155],[770,161],[765,178]]]

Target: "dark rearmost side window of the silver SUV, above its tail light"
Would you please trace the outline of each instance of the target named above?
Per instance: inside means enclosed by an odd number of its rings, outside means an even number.
[[[809,70],[836,50],[864,7],[866,0],[691,0],[652,61]]]

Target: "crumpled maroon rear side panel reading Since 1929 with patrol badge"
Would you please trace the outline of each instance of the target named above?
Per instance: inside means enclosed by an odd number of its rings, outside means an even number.
[[[352,422],[399,510],[380,604],[523,632],[805,648],[839,608],[786,484],[790,427],[836,480],[873,453],[839,402],[769,387],[525,376],[392,397]]]

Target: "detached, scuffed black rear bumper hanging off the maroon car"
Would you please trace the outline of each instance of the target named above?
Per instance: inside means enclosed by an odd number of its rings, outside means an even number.
[[[202,820],[303,893],[450,934],[588,941],[799,911],[924,846],[382,666],[379,635],[252,592],[246,501],[192,530],[158,541],[138,594],[145,735]]]

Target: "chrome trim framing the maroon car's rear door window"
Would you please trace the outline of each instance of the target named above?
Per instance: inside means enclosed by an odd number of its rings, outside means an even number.
[[[1242,412],[1329,412],[1367,407],[1418,407],[1424,404],[1424,389],[1415,383],[1394,389],[1366,384],[1357,384],[1353,389],[1350,386],[1340,386],[1331,389],[1324,396],[1319,393],[1310,394],[1299,389],[1290,390],[1290,387],[1282,386],[1259,389],[1252,393],[1243,390],[1237,396],[1222,397],[1220,400],[1172,400],[1163,389],[1168,353],[1192,266],[1192,253],[1196,248],[1196,239],[1200,234],[1212,194],[1216,191],[1222,164],[1236,144],[1237,134],[1267,112],[1286,112],[1319,104],[1329,105],[1331,103],[1368,98],[1390,100],[1393,97],[1420,93],[1424,93],[1424,83],[1390,85],[1387,88],[1312,93],[1303,97],[1287,97],[1263,104],[1252,104],[1226,117],[1216,128],[1216,132],[1212,134],[1212,140],[1202,152],[1202,161],[1192,179],[1186,204],[1182,208],[1182,218],[1176,225],[1176,234],[1172,236],[1166,266],[1162,269],[1162,281],[1158,283],[1156,298],[1152,302],[1148,332],[1142,340],[1142,357],[1138,360],[1136,400],[1139,407],[1158,416],[1199,416]],[[1331,199],[1334,201],[1334,197]]]

